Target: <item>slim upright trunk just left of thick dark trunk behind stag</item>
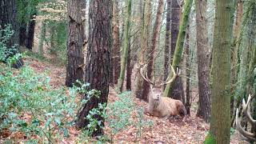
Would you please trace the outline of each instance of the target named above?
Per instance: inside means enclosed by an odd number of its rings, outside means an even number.
[[[169,70],[169,52],[170,52],[170,18],[171,18],[171,0],[167,0],[167,12],[166,12],[166,42],[165,42],[165,54],[164,54],[164,81],[168,77]]]

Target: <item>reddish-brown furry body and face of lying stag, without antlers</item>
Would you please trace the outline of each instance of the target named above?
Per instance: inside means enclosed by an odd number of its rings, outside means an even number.
[[[159,94],[155,98],[154,94]],[[170,116],[186,115],[186,108],[181,101],[175,100],[173,98],[162,97],[162,89],[153,87],[150,89],[149,105],[146,112],[152,114],[159,118],[170,118]]]

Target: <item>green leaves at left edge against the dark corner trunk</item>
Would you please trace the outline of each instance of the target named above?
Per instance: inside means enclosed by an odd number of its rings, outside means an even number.
[[[14,30],[10,25],[5,26],[6,29],[0,30],[0,61],[6,62],[10,55],[17,52],[17,46],[7,47],[7,43],[14,34]]]

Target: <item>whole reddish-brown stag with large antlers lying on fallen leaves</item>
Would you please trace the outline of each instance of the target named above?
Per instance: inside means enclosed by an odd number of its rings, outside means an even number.
[[[149,95],[149,104],[146,108],[146,112],[159,118],[168,119],[170,116],[180,115],[185,116],[186,115],[186,108],[182,104],[181,101],[175,100],[173,98],[167,98],[162,97],[163,90],[162,86],[174,82],[174,79],[178,77],[180,74],[180,71],[177,69],[177,73],[175,73],[174,67],[171,66],[171,70],[173,71],[173,77],[167,78],[166,82],[162,82],[161,84],[155,84],[154,81],[151,81],[150,78],[148,78],[147,73],[144,75],[143,70],[145,69],[145,66],[142,66],[140,69],[140,74],[142,74],[142,78],[150,83],[150,95]]]

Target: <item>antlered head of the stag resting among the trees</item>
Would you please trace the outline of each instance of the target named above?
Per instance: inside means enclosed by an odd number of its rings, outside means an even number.
[[[180,74],[180,70],[178,70],[177,68],[177,73],[175,73],[175,70],[174,70],[174,67],[171,66],[171,70],[173,72],[173,76],[172,78],[166,78],[166,81],[165,82],[162,82],[160,84],[156,84],[156,82],[151,81],[150,78],[148,78],[147,76],[147,73],[144,75],[143,71],[145,70],[147,65],[144,65],[144,66],[141,66],[141,69],[140,69],[140,74],[142,75],[142,78],[150,83],[150,97],[153,98],[154,100],[159,100],[162,96],[162,86],[166,85],[166,84],[169,84],[170,82],[174,82],[174,79],[178,77],[178,75]],[[154,77],[153,77],[154,79]]]

